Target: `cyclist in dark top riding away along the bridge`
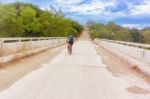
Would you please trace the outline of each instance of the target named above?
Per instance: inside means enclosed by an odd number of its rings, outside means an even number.
[[[68,42],[68,53],[72,54],[72,45],[74,43],[74,36],[73,36],[73,34],[69,34],[68,35],[67,42]]]

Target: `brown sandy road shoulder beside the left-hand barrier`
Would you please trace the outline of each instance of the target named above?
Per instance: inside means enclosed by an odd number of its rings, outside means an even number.
[[[39,69],[42,64],[51,61],[51,59],[58,55],[65,47],[66,45],[51,48],[36,55],[24,57],[5,64],[0,68],[0,91],[8,88],[28,73]]]

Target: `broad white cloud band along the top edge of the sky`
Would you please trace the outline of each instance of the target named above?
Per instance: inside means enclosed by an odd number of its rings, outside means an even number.
[[[121,5],[119,0],[91,0],[80,4],[85,0],[55,0],[54,3],[65,13],[78,13],[81,15],[101,15],[105,17],[140,17],[150,14],[150,0],[143,0],[141,4],[135,5],[134,1],[126,1],[126,11],[122,9],[113,12],[107,8],[116,8]],[[143,2],[143,3],[142,3]]]

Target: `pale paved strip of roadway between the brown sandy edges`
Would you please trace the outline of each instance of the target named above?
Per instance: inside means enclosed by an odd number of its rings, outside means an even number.
[[[150,99],[149,94],[128,92],[131,84],[129,77],[115,77],[107,70],[92,42],[77,41],[72,55],[64,49],[0,92],[0,99]]]

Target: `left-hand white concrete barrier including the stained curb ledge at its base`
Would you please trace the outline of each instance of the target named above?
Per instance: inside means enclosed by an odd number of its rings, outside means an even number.
[[[63,45],[65,42],[64,37],[0,38],[0,64]]]

